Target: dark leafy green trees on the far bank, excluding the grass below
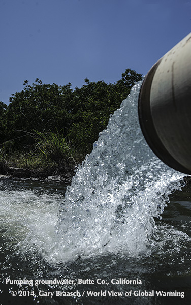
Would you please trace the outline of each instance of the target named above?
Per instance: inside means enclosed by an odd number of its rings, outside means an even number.
[[[31,151],[38,146],[37,134],[44,140],[43,134],[47,138],[56,135],[84,157],[106,128],[110,115],[141,79],[141,74],[127,69],[114,84],[86,78],[75,90],[71,83],[43,84],[37,78],[29,85],[26,80],[24,89],[12,95],[8,106],[0,103],[0,147]]]

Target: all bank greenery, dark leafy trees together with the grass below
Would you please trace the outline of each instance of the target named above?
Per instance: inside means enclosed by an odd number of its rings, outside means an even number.
[[[142,75],[127,69],[114,84],[85,79],[81,88],[43,84],[38,78],[0,102],[0,171],[6,166],[51,174],[74,168]],[[1,172],[0,172],[1,173]]]

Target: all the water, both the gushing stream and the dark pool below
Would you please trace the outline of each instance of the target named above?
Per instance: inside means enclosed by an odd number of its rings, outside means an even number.
[[[140,86],[67,189],[0,180],[0,304],[189,303],[189,186],[142,136]]]

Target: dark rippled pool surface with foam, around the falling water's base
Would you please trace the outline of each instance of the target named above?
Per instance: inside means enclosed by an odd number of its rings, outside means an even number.
[[[45,231],[55,224],[67,183],[0,180],[1,304],[189,303],[191,184],[170,195],[162,219],[155,220],[158,237],[145,252],[51,264],[39,253],[44,242],[40,236],[51,236]],[[39,238],[36,244],[31,236],[27,239],[30,229]],[[20,285],[12,284],[14,280]],[[157,296],[162,291],[175,296]]]

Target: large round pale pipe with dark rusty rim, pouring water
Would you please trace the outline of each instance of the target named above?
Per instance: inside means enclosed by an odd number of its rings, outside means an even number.
[[[143,135],[156,156],[191,174],[191,33],[150,69],[138,107]]]

